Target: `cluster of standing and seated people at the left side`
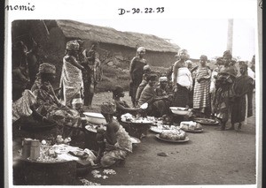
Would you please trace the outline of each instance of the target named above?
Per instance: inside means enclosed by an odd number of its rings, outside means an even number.
[[[97,85],[98,43],[90,50],[82,49],[81,40],[67,41],[63,57],[59,94],[51,86],[56,77],[53,64],[35,64],[35,80],[31,81],[27,46],[18,41],[12,47],[12,121],[19,124],[57,124],[59,133],[73,134],[82,127],[80,112],[90,106]],[[34,77],[33,77],[34,78]],[[33,84],[29,84],[33,82]],[[84,91],[84,92],[83,92]],[[87,106],[87,107],[88,107]],[[19,121],[18,121],[19,120]]]

